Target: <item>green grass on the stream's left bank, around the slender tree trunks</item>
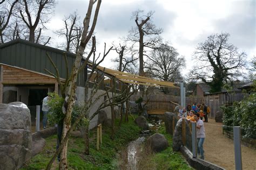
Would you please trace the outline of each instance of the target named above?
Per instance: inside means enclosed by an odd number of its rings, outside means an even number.
[[[97,130],[90,131],[90,155],[84,154],[84,140],[82,138],[70,138],[68,144],[68,164],[70,169],[118,169],[117,151],[126,147],[128,142],[139,137],[140,128],[134,126],[132,118],[129,122],[122,123],[118,127],[119,120],[116,121],[116,131],[114,140],[110,139],[111,128],[103,127],[103,144],[99,151],[96,149]],[[43,151],[27,162],[22,169],[44,169],[56,149],[56,135],[46,138],[46,146]],[[57,161],[57,159],[56,159]],[[58,168],[57,162],[53,168]]]

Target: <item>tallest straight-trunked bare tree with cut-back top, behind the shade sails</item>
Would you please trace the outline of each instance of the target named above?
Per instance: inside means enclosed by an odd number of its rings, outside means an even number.
[[[128,40],[139,43],[139,76],[145,76],[144,56],[146,56],[146,48],[154,49],[161,41],[160,34],[163,32],[151,22],[154,12],[150,11],[147,15],[143,15],[143,12],[143,10],[133,12],[132,18],[137,27],[133,27],[128,36]],[[143,86],[140,85],[139,89],[143,91]]]

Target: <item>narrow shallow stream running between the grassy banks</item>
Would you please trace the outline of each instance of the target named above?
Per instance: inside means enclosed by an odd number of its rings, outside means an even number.
[[[144,141],[150,137],[153,133],[156,133],[160,127],[162,119],[157,115],[147,118],[149,121],[149,130],[142,131],[140,137],[129,143],[127,147],[127,168],[126,169],[139,169],[138,161],[140,159],[140,153],[143,151]]]

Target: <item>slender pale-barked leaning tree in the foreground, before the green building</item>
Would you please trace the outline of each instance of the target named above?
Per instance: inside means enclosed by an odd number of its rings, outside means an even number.
[[[83,33],[82,33],[82,38],[81,38],[81,43],[79,45],[79,50],[76,53],[76,58],[75,58],[75,62],[73,63],[71,74],[70,74],[69,77],[66,77],[66,79],[68,79],[68,80],[66,81],[67,83],[65,83],[65,86],[66,86],[65,101],[64,101],[64,104],[63,104],[63,114],[65,114],[65,118],[63,120],[62,141],[60,143],[60,146],[59,146],[57,152],[55,153],[55,155],[53,156],[53,158],[49,162],[47,169],[50,169],[53,160],[56,158],[57,154],[60,151],[61,152],[60,152],[59,169],[68,169],[68,160],[67,160],[68,135],[69,135],[69,132],[72,131],[72,128],[70,127],[71,126],[71,113],[72,113],[72,110],[73,110],[73,105],[75,104],[75,92],[76,92],[77,75],[78,75],[79,69],[81,69],[80,63],[81,63],[81,60],[83,58],[83,53],[84,53],[85,47],[86,47],[87,43],[89,42],[89,40],[91,39],[93,31],[95,30],[95,26],[96,26],[96,23],[97,23],[97,18],[98,18],[98,13],[99,13],[99,8],[100,8],[101,2],[102,2],[101,0],[97,1],[97,6],[96,6],[96,9],[95,9],[93,22],[92,22],[92,25],[91,25],[91,29],[89,31],[89,25],[90,25],[90,20],[91,20],[91,15],[92,15],[92,8],[93,8],[93,4],[95,3],[95,1],[93,1],[93,0],[89,1],[87,13],[86,13],[86,16],[85,16],[84,22],[83,22],[84,30],[83,30]],[[106,56],[108,52],[109,51],[107,51],[105,53],[105,51],[104,51],[104,56]],[[89,58],[90,58],[90,56],[88,56],[86,58],[86,60],[84,62],[85,65],[87,65],[87,62],[88,62]],[[104,57],[100,61],[103,61],[103,60],[104,60]],[[57,78],[59,78],[59,76],[57,76]]]

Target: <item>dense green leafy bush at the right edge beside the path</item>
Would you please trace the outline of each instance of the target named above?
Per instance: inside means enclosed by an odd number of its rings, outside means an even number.
[[[256,93],[232,106],[222,107],[224,112],[224,125],[241,126],[243,137],[256,139]]]

